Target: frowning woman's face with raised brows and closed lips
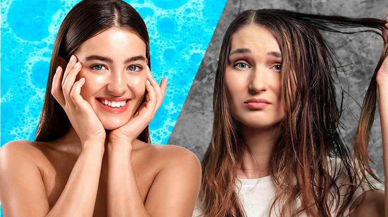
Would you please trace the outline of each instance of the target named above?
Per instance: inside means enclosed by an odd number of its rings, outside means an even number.
[[[284,118],[281,68],[279,44],[267,28],[250,25],[232,35],[225,84],[231,115],[242,126],[271,128]]]

